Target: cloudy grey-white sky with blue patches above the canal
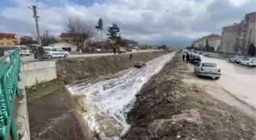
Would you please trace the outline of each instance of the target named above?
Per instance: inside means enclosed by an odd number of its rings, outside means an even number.
[[[220,34],[216,24],[227,26],[256,11],[256,0],[1,0],[0,32],[36,33],[32,11],[27,8],[36,3],[41,33],[50,30],[59,36],[69,17],[80,17],[91,26],[101,17],[104,34],[107,26],[116,22],[127,39],[174,46]]]

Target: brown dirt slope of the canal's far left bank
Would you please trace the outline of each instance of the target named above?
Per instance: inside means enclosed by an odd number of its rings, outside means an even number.
[[[133,54],[117,54],[104,57],[92,58],[69,58],[59,59],[56,62],[58,79],[66,84],[80,79],[96,78],[107,74],[114,74],[129,67],[133,67],[138,61],[150,61],[170,51],[149,51]]]

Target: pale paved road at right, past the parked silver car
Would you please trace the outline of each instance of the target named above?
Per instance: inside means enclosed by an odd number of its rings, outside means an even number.
[[[230,64],[228,61],[205,58],[202,60],[215,61],[222,70],[222,76],[216,83],[222,86],[231,95],[256,109],[256,68],[245,67],[239,64]]]

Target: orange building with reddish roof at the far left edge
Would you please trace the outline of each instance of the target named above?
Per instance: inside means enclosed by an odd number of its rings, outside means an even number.
[[[0,48],[11,48],[19,44],[18,35],[14,33],[0,33]]]

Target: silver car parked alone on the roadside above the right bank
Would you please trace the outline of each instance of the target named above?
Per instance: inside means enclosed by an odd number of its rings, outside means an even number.
[[[194,73],[197,77],[199,76],[209,76],[219,79],[221,76],[221,70],[218,64],[210,61],[200,61],[194,67]]]

